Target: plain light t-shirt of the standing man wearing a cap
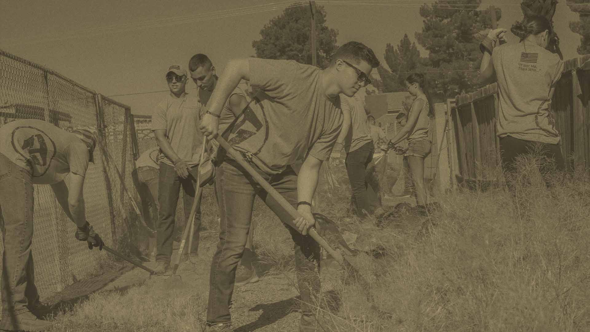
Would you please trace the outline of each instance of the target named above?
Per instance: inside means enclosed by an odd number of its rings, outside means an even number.
[[[166,129],[166,139],[179,158],[190,167],[199,164],[203,135],[199,131],[201,103],[198,97],[186,93],[177,98],[170,93],[153,110],[152,131]],[[173,166],[166,155],[160,153],[159,161]]]

